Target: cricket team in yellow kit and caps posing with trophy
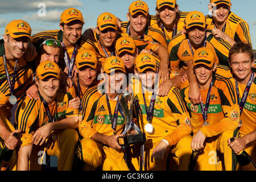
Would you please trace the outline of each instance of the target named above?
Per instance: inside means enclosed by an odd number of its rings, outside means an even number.
[[[9,22],[1,170],[40,171],[53,155],[58,171],[255,171],[249,26],[230,0],[210,0],[211,15],[178,3],[156,0],[150,15],[134,1],[127,20],[101,13],[84,32],[72,7],[59,30]]]

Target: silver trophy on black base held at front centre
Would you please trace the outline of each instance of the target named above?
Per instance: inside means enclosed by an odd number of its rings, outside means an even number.
[[[134,93],[126,92],[119,97],[125,117],[125,129],[122,133],[124,136],[118,138],[119,145],[130,146],[131,144],[146,142],[146,135],[133,123],[133,109],[138,109],[134,108]],[[131,129],[134,131],[133,134],[127,134]]]

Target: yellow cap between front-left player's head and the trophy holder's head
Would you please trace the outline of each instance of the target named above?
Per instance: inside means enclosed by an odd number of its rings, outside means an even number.
[[[79,51],[76,55],[76,67],[82,68],[85,66],[91,67],[93,69],[97,68],[97,57],[96,54],[91,50]]]

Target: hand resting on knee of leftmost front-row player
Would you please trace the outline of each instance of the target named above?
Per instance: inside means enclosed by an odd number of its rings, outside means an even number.
[[[39,127],[32,137],[32,143],[34,143],[36,146],[38,144],[42,146],[44,141],[49,137],[49,135],[51,135],[51,131],[51,123],[47,123],[46,125]]]

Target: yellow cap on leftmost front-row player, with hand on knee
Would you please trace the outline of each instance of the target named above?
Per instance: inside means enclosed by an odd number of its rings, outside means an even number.
[[[59,79],[60,68],[53,61],[43,61],[36,68],[36,76],[38,76],[40,80],[43,80],[47,76],[53,76]]]

